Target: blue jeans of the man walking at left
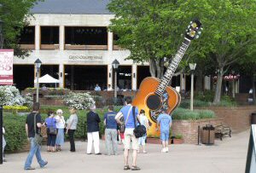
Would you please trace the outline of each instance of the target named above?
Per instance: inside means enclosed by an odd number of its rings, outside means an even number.
[[[29,141],[31,143],[31,147],[30,147],[30,151],[28,153],[28,156],[26,158],[26,163],[25,163],[25,166],[24,166],[24,169],[28,169],[31,167],[31,164],[32,164],[32,159],[34,157],[34,154],[36,154],[36,157],[37,157],[37,160],[38,160],[38,164],[40,165],[40,167],[44,167],[44,165],[46,164],[44,162],[44,160],[41,158],[41,147],[39,145],[37,145],[34,141],[34,138],[33,137],[30,137],[29,138]]]

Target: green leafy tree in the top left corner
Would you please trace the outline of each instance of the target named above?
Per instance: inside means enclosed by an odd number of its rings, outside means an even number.
[[[0,0],[0,19],[3,20],[3,48],[15,49],[15,55],[24,57],[26,50],[19,47],[20,31],[28,25],[27,19],[32,16],[29,10],[38,0]]]

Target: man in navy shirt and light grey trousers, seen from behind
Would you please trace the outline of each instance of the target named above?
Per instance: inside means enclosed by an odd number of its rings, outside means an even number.
[[[113,112],[113,106],[109,106],[108,112],[104,115],[104,124],[106,125],[105,140],[108,156],[111,154],[117,155],[117,122],[115,116],[116,112]]]

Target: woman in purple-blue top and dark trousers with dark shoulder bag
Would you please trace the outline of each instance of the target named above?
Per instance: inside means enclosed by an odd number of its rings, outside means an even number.
[[[47,152],[55,152],[55,140],[57,135],[55,114],[52,111],[48,112],[48,118],[45,119],[47,126]]]

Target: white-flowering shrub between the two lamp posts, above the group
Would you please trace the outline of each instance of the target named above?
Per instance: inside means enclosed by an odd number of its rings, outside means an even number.
[[[65,102],[69,107],[75,107],[79,110],[89,109],[90,105],[95,104],[92,96],[87,93],[73,93],[70,92],[65,98]]]

